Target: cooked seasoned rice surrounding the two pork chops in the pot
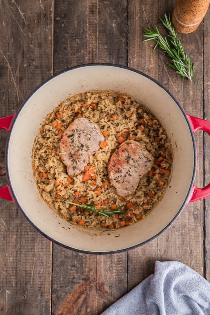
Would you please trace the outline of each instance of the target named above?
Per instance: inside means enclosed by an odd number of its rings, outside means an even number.
[[[119,96],[124,98],[124,102],[119,100]],[[87,103],[85,108],[82,107],[84,103]],[[91,103],[97,103],[97,108],[93,108]],[[89,157],[88,165],[94,166],[96,169],[96,184],[91,185],[92,179],[82,181],[84,173],[82,172],[77,176],[72,176],[73,181],[66,186],[68,175],[66,166],[61,161],[60,155],[62,153],[59,150],[61,134],[58,133],[59,130],[56,127],[53,127],[52,122],[56,120],[61,123],[61,129],[65,131],[69,124],[77,118],[80,111],[82,117],[97,123],[101,132],[108,130],[109,134],[105,137],[105,148],[100,148],[98,152]],[[56,112],[61,113],[59,119]],[[113,119],[113,114],[117,114],[118,118]],[[111,119],[107,115],[110,115]],[[139,122],[139,119],[144,119],[144,123]],[[153,122],[149,123],[148,120]],[[138,129],[140,125],[144,126],[145,130]],[[129,129],[129,133],[126,133],[127,129]],[[104,180],[109,180],[107,163],[111,154],[119,146],[117,139],[122,134],[126,139],[135,135],[136,141],[145,144],[145,149],[155,158],[152,168],[154,174],[152,176],[149,176],[148,173],[144,175],[140,179],[135,193],[125,199],[116,194],[112,185],[108,188],[102,188],[100,195],[97,196],[94,189],[101,187]],[[56,155],[53,151],[56,152]],[[162,163],[157,162],[160,156],[164,158]],[[46,117],[35,139],[32,167],[40,195],[49,207],[66,221],[77,224],[77,221],[83,219],[85,221],[83,226],[87,228],[101,228],[101,224],[108,227],[114,223],[115,228],[119,228],[122,221],[125,221],[126,225],[132,225],[139,221],[139,218],[144,219],[162,199],[169,184],[170,174],[168,173],[172,167],[171,144],[157,118],[131,96],[114,91],[92,91],[66,99]],[[165,170],[167,170],[167,174]],[[47,173],[45,179],[41,179],[41,172]],[[160,182],[158,184],[160,179],[164,180],[162,186],[159,186]],[[55,181],[61,182],[61,184],[56,187]],[[129,210],[133,210],[133,218],[128,218],[125,215],[119,215],[119,218],[116,218],[115,215],[106,218],[98,213],[84,215],[83,209],[80,207],[77,207],[72,214],[69,210],[71,205],[65,201],[73,202],[75,192],[80,193],[77,197],[78,201],[81,196],[87,199],[86,204],[108,203],[107,210],[111,209],[111,204],[116,204],[119,207],[131,202],[133,207]],[[151,197],[150,193],[154,194],[154,197]],[[128,208],[125,206],[125,209]]]

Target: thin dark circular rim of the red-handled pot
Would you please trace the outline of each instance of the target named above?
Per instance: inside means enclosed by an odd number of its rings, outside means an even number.
[[[65,72],[69,72],[71,70],[74,70],[74,69],[77,69],[77,68],[82,68],[82,67],[87,67],[87,66],[110,66],[110,67],[117,67],[117,68],[122,68],[122,69],[125,69],[125,70],[129,70],[129,71],[132,71],[132,72],[136,72],[140,75],[142,75],[143,77],[146,77],[148,78],[149,80],[153,81],[154,83],[158,84],[162,89],[164,89],[167,94],[175,101],[176,105],[179,107],[179,109],[181,110],[182,114],[184,115],[184,118],[188,124],[188,128],[190,130],[190,134],[191,134],[191,138],[192,138],[192,142],[193,142],[193,152],[194,152],[194,167],[193,167],[193,174],[192,174],[192,179],[191,179],[191,183],[190,183],[190,186],[189,186],[189,190],[188,190],[188,193],[186,195],[186,198],[184,199],[184,202],[181,206],[181,208],[179,209],[178,213],[174,216],[174,218],[167,224],[167,226],[165,226],[159,233],[157,233],[156,235],[154,235],[153,237],[149,238],[148,240],[142,242],[142,243],[139,243],[137,245],[134,245],[134,246],[131,246],[131,247],[128,247],[128,248],[125,248],[125,249],[119,249],[119,250],[114,250],[114,251],[105,251],[105,252],[94,252],[94,251],[87,251],[87,250],[83,250],[83,249],[76,249],[76,248],[73,248],[71,246],[68,246],[68,245],[65,245],[61,242],[58,242],[57,240],[55,240],[54,238],[48,236],[45,232],[43,232],[41,229],[39,229],[32,221],[31,219],[28,217],[28,215],[26,215],[24,209],[22,209],[22,207],[20,206],[20,203],[18,202],[18,199],[16,198],[15,196],[15,193],[13,191],[13,188],[12,188],[12,184],[11,184],[11,180],[10,180],[10,176],[9,176],[9,167],[8,167],[8,149],[9,149],[9,141],[10,141],[10,137],[11,137],[11,134],[12,134],[12,130],[13,130],[13,127],[14,127],[14,123],[17,119],[17,117],[19,116],[22,108],[26,105],[26,103],[28,102],[28,100],[31,98],[32,95],[34,95],[35,92],[37,92],[37,90],[39,90],[45,83],[47,83],[48,81],[54,79],[55,77],[65,73]],[[56,73],[55,75],[49,77],[47,80],[45,80],[43,83],[41,83],[40,85],[37,86],[36,89],[34,89],[31,94],[26,98],[26,100],[24,100],[24,102],[21,104],[21,106],[19,107],[18,111],[16,112],[16,115],[12,121],[12,124],[11,124],[11,127],[10,127],[10,130],[9,130],[9,134],[8,134],[8,138],[7,138],[7,143],[6,143],[6,150],[5,150],[5,166],[6,166],[6,175],[7,175],[7,179],[8,179],[8,183],[9,183],[9,188],[10,188],[10,191],[12,193],[12,196],[14,198],[14,201],[16,203],[16,205],[18,206],[18,209],[20,210],[20,212],[22,213],[22,215],[26,218],[26,220],[38,231],[40,232],[45,238],[48,238],[50,241],[52,241],[53,243],[57,244],[57,245],[60,245],[64,248],[67,248],[67,249],[71,249],[73,251],[76,251],[76,252],[79,252],[79,253],[84,253],[84,254],[93,254],[93,255],[105,255],[105,254],[116,254],[116,253],[122,253],[122,252],[125,252],[125,251],[128,251],[130,249],[135,249],[137,247],[140,247],[140,246],[143,246],[145,245],[146,243],[149,243],[150,241],[152,241],[153,239],[155,239],[156,237],[160,236],[164,231],[167,230],[167,228],[169,226],[172,225],[172,223],[177,219],[177,217],[180,215],[180,213],[182,212],[182,210],[184,209],[184,206],[186,205],[188,199],[190,198],[190,192],[192,190],[192,187],[193,187],[193,184],[194,184],[194,181],[195,181],[195,177],[196,177],[196,163],[197,163],[197,151],[196,151],[196,142],[195,142],[195,138],[194,138],[194,135],[193,135],[193,131],[192,131],[192,128],[191,128],[191,125],[190,125],[190,122],[188,120],[188,117],[186,115],[186,113],[184,112],[184,109],[183,107],[179,104],[178,100],[173,96],[172,93],[170,93],[164,85],[162,85],[161,83],[159,83],[157,80],[153,79],[152,77],[150,77],[149,75],[139,71],[139,70],[136,70],[136,69],[133,69],[133,68],[130,68],[130,67],[127,67],[127,66],[121,66],[121,65],[117,65],[117,64],[112,64],[112,63],[89,63],[89,64],[83,64],[83,65],[79,65],[79,66],[74,66],[74,67],[70,67],[70,68],[67,68],[63,71],[60,71],[58,73]]]

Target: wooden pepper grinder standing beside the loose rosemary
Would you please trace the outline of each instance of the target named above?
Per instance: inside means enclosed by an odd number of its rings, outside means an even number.
[[[204,18],[210,0],[177,0],[172,13],[175,30],[180,33],[191,33]]]

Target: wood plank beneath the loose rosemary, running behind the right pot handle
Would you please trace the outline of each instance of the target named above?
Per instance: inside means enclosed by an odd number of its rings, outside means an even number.
[[[172,12],[174,1],[158,1],[158,14]],[[160,29],[161,23],[159,23]],[[190,34],[179,34],[184,51],[195,62],[195,75],[199,80],[196,85],[181,77],[165,65],[167,57],[158,54],[158,80],[172,92],[183,105],[184,110],[193,116],[203,117],[203,72],[202,72],[202,25]],[[197,174],[195,184],[203,186],[203,136],[196,132]],[[173,225],[158,238],[158,260],[177,260],[190,266],[203,275],[203,201],[188,204]]]

